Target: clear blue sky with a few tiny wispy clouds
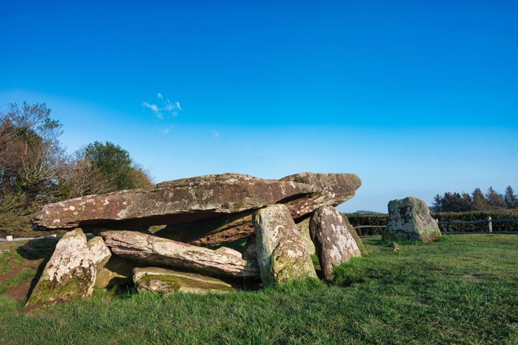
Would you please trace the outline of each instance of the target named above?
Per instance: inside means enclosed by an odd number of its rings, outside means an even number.
[[[517,14],[512,1],[7,2],[0,106],[46,102],[70,151],[112,141],[156,182],[356,173],[344,212],[516,190]]]

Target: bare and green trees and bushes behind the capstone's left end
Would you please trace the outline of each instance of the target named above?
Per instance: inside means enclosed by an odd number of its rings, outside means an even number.
[[[28,219],[45,203],[151,184],[119,145],[94,142],[68,154],[62,133],[45,104],[0,110],[0,235],[34,235]]]

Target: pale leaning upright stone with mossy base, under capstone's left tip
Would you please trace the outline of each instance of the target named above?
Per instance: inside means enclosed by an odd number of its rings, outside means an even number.
[[[90,297],[96,269],[90,259],[87,237],[76,229],[63,235],[45,266],[25,310]]]

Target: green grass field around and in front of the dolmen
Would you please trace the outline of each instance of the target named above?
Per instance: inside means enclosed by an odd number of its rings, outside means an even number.
[[[518,343],[516,235],[445,236],[397,252],[364,238],[370,255],[328,284],[226,295],[96,290],[91,301],[27,316],[24,291],[52,252],[45,241],[0,243],[0,343]]]

